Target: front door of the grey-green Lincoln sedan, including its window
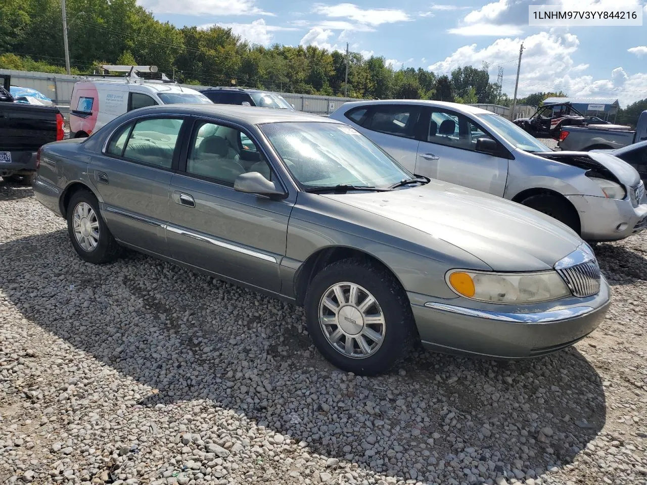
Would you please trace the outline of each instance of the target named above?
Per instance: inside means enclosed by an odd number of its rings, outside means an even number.
[[[242,173],[259,172],[269,180],[276,174],[252,136],[236,127],[203,120],[192,132],[186,161],[171,180],[171,257],[281,292],[292,203],[234,190]]]

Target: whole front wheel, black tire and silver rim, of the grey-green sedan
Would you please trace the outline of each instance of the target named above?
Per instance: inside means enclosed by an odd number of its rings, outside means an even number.
[[[338,305],[334,291],[337,285],[344,305]],[[350,304],[351,285],[356,288],[355,305]],[[368,299],[367,295],[371,295],[377,305],[369,304],[360,310]],[[337,304],[336,312],[323,303],[326,297],[333,307]],[[304,306],[314,345],[326,360],[344,371],[362,376],[382,374],[402,360],[413,347],[415,325],[406,294],[393,275],[373,264],[344,259],[326,266],[309,285]],[[339,312],[344,312],[344,327],[336,323],[339,322]],[[381,318],[382,323],[364,323],[367,315],[376,322]],[[322,323],[324,317],[330,323]],[[329,336],[334,338],[335,334],[338,336],[336,345],[333,345]],[[381,336],[380,340],[378,336]],[[354,356],[347,353],[349,347],[352,347],[350,353]]]

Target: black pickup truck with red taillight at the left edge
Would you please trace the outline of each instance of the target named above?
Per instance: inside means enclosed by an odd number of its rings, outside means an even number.
[[[0,177],[31,185],[38,149],[63,140],[63,116],[56,107],[14,103],[8,79],[1,81],[0,78]]]

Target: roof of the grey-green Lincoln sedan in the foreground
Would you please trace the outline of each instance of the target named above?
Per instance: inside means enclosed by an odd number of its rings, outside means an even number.
[[[174,114],[193,114],[196,116],[226,116],[226,118],[232,122],[248,125],[281,122],[321,122],[340,124],[337,120],[332,120],[325,116],[319,116],[318,114],[303,113],[302,111],[229,104],[165,104],[140,108],[137,110],[137,113],[151,114],[155,111]]]

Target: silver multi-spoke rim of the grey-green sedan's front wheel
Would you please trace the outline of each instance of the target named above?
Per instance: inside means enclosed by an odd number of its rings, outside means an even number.
[[[319,324],[328,343],[346,357],[367,358],[384,342],[382,308],[366,288],[355,283],[336,283],[323,292]]]

